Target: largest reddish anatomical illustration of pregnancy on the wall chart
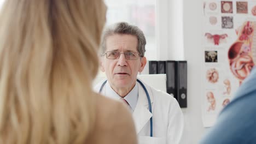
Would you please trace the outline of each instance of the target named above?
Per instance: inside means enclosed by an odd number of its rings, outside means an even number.
[[[250,21],[243,23],[236,30],[238,39],[230,46],[228,51],[231,73],[239,80],[240,84],[249,75],[254,65],[251,51],[254,25],[254,22]]]

